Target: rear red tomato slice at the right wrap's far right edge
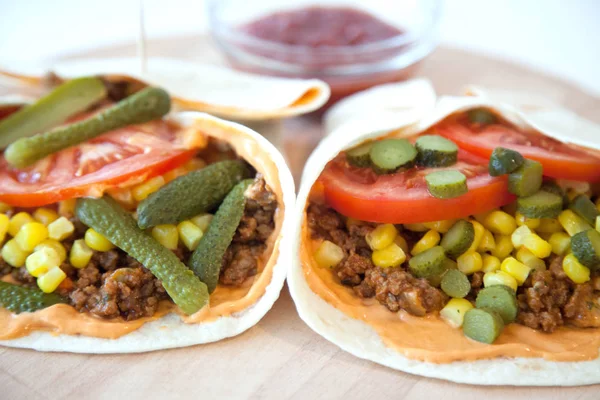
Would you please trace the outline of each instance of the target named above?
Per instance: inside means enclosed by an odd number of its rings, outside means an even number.
[[[537,133],[519,132],[504,125],[489,125],[472,130],[460,123],[435,128],[460,148],[489,158],[496,147],[505,147],[536,160],[544,166],[544,175],[574,181],[600,181],[600,156],[591,150],[561,143]]]

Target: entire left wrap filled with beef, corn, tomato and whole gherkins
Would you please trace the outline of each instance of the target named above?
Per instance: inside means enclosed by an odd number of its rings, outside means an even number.
[[[0,344],[130,353],[231,337],[283,286],[294,184],[261,135],[96,77],[0,120]],[[125,97],[126,96],[126,97]]]

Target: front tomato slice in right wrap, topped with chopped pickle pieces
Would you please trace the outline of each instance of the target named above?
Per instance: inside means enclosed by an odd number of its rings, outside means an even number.
[[[429,194],[425,175],[441,168],[413,168],[406,172],[376,175],[370,168],[354,168],[341,154],[331,161],[319,181],[325,201],[341,214],[362,221],[420,223],[464,218],[512,202],[506,177],[492,177],[487,161],[459,151],[458,169],[467,177],[469,191],[453,199]]]

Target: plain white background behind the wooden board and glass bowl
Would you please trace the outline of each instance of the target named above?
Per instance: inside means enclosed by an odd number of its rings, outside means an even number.
[[[206,31],[204,3],[145,0],[149,36]],[[137,7],[138,0],[0,0],[0,61],[131,42]],[[600,95],[600,0],[445,0],[441,32],[444,44],[527,64]]]

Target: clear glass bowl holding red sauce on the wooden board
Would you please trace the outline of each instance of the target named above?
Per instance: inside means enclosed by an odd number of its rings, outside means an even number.
[[[440,0],[210,0],[208,7],[212,35],[234,68],[322,79],[331,86],[330,103],[377,84],[411,77],[419,61],[437,45],[440,16]],[[307,12],[312,7],[342,7],[367,13],[394,30],[392,34],[388,31],[385,38],[372,37],[366,43],[332,45],[327,41],[339,41],[339,35],[320,40],[319,32],[311,32],[312,39],[307,35],[298,38],[304,43],[282,40],[287,31],[295,28],[294,24],[314,24],[312,14],[301,22],[271,20],[275,26],[263,32],[255,25],[273,15]],[[351,28],[341,25],[343,35],[352,34],[347,32]],[[270,39],[268,35],[273,31],[281,34]]]

